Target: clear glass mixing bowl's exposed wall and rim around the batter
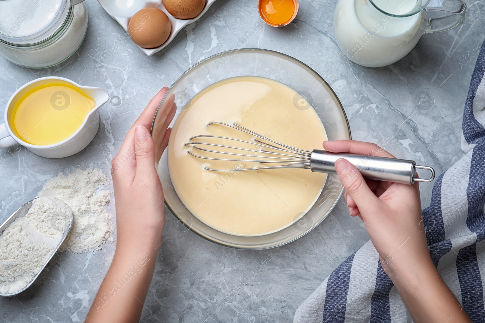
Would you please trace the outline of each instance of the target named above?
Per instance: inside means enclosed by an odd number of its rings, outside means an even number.
[[[286,84],[305,97],[317,111],[325,127],[328,140],[351,138],[347,116],[339,98],[318,73],[288,55],[267,49],[246,48],[226,51],[198,62],[172,84],[163,97],[153,120],[151,133],[155,143],[162,141],[162,138],[159,138],[162,135],[156,131],[156,125],[164,121],[159,113],[161,107],[177,105],[175,121],[181,110],[190,108],[190,99],[196,93],[215,82],[237,76],[267,77]],[[305,100],[299,101],[298,97],[295,97],[295,107],[306,109],[306,106],[299,105],[301,102],[305,102]],[[315,147],[315,149],[319,148],[321,147]],[[187,228],[185,230],[190,229],[209,241],[232,248],[267,249],[300,238],[323,221],[332,211],[343,191],[338,176],[328,175],[318,200],[303,217],[291,226],[260,236],[227,234],[204,224],[185,207],[170,180],[167,152],[161,153],[156,152],[157,171],[162,181],[165,203],[178,218],[178,225],[182,227],[183,224]]]

